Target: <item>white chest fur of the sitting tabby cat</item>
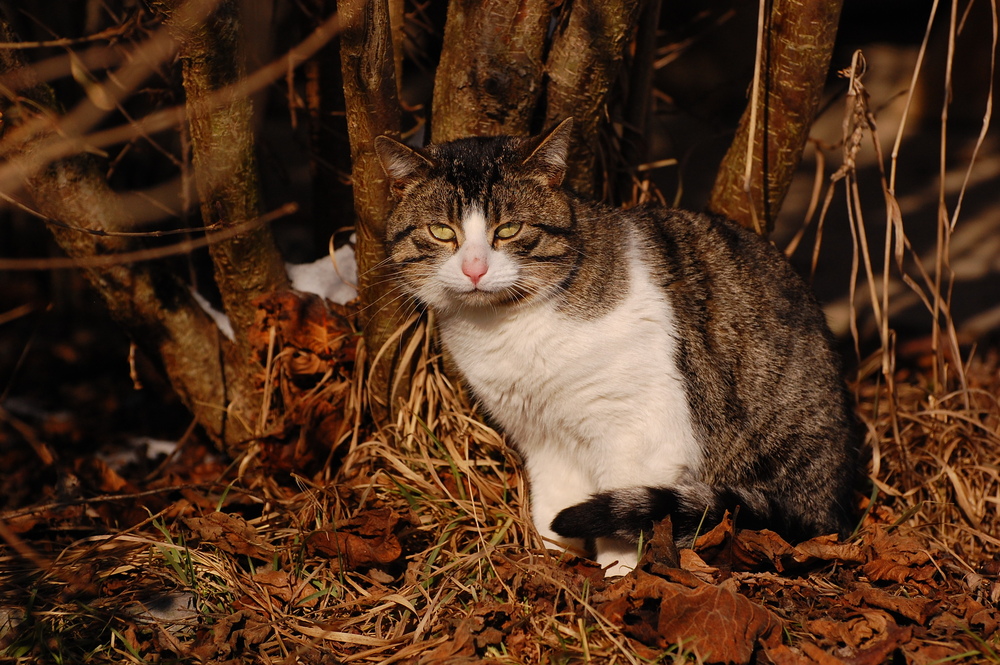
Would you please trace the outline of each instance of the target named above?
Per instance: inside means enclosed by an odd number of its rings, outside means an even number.
[[[633,253],[628,294],[603,316],[576,318],[543,302],[445,317],[441,333],[526,458],[532,491],[571,482],[579,491],[569,494],[583,500],[594,491],[667,485],[699,464],[672,317]]]

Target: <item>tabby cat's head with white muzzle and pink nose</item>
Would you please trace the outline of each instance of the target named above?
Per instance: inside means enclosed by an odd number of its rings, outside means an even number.
[[[571,128],[420,151],[377,138],[397,199],[386,248],[404,288],[442,313],[557,293],[579,256],[562,188]]]

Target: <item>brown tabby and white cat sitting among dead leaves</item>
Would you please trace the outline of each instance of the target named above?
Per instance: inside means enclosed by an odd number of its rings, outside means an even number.
[[[858,433],[815,298],[734,222],[576,196],[571,127],[375,141],[390,261],[519,451],[539,534],[608,575],[668,514],[682,545],[737,506],[848,534]]]

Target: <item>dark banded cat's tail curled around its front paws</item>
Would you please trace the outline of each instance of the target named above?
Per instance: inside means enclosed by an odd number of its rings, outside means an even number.
[[[738,507],[741,528],[762,528],[772,517],[765,497],[756,491],[715,488],[702,482],[673,487],[629,487],[594,494],[583,503],[561,510],[552,530],[564,538],[614,538],[637,542],[653,525],[670,515],[674,540],[689,546],[711,529],[728,509]]]

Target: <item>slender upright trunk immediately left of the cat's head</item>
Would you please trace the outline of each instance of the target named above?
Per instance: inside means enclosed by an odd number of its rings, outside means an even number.
[[[392,203],[389,183],[372,143],[381,134],[398,138],[401,113],[386,0],[338,0],[337,9],[341,16],[340,58],[358,217],[361,323],[369,357],[375,358],[381,352],[369,374],[369,406],[376,421],[382,422],[394,406],[393,395],[407,394],[407,386],[394,386],[392,381],[401,345],[386,344],[405,322],[406,308],[398,300],[385,261],[385,221]]]

